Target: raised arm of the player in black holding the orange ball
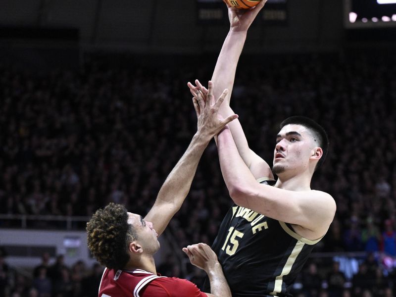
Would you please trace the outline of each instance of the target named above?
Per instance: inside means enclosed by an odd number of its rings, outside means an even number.
[[[252,9],[237,9],[227,5],[230,19],[230,31],[224,41],[212,76],[212,81],[215,83],[213,90],[213,96],[215,98],[221,94],[222,90],[229,90],[229,95],[227,96],[226,100],[224,100],[224,103],[221,105],[219,110],[223,117],[227,117],[234,113],[230,108],[230,96],[234,85],[238,60],[245,44],[247,30],[254,18],[257,16],[258,12],[261,10],[261,8],[263,8],[265,2],[266,0],[262,0],[259,2],[259,4],[257,4],[256,7]],[[206,89],[199,83],[198,80],[195,83],[202,93],[206,93]],[[193,89],[195,86],[193,86],[191,83],[189,83],[189,87],[191,90],[195,91]],[[249,148],[240,122],[238,120],[233,121],[230,123],[229,127],[231,129],[238,151],[253,175],[256,178],[273,178],[268,164]]]

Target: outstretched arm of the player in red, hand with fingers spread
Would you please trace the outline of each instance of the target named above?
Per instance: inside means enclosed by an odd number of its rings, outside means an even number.
[[[218,109],[223,102],[227,90],[223,92],[215,104],[205,104],[201,97],[194,98],[194,107],[198,117],[198,130],[189,147],[179,162],[172,169],[159,190],[154,205],[145,220],[152,222],[157,234],[160,235],[173,215],[180,209],[184,199],[190,191],[199,159],[209,141],[237,115],[230,115],[226,119],[218,118]]]

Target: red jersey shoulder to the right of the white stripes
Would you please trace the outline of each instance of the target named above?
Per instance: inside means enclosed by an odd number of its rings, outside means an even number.
[[[156,278],[146,288],[145,293],[149,294],[148,296],[207,297],[195,284],[177,277]]]

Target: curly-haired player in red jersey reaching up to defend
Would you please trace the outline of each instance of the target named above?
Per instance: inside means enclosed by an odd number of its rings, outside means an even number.
[[[211,89],[209,88],[209,96]],[[198,130],[190,146],[162,185],[147,216],[127,212],[123,205],[110,203],[99,209],[87,223],[88,247],[106,266],[99,297],[231,297],[216,254],[205,244],[183,248],[192,264],[203,269],[210,280],[210,292],[193,283],[157,275],[153,254],[159,249],[157,237],[179,210],[193,181],[199,159],[209,141],[237,115],[218,118],[227,90],[213,104],[194,98]]]

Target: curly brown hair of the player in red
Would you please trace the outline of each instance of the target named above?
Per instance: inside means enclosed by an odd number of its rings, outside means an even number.
[[[129,261],[128,244],[137,239],[124,205],[109,203],[87,223],[88,247],[100,264],[122,269]]]

